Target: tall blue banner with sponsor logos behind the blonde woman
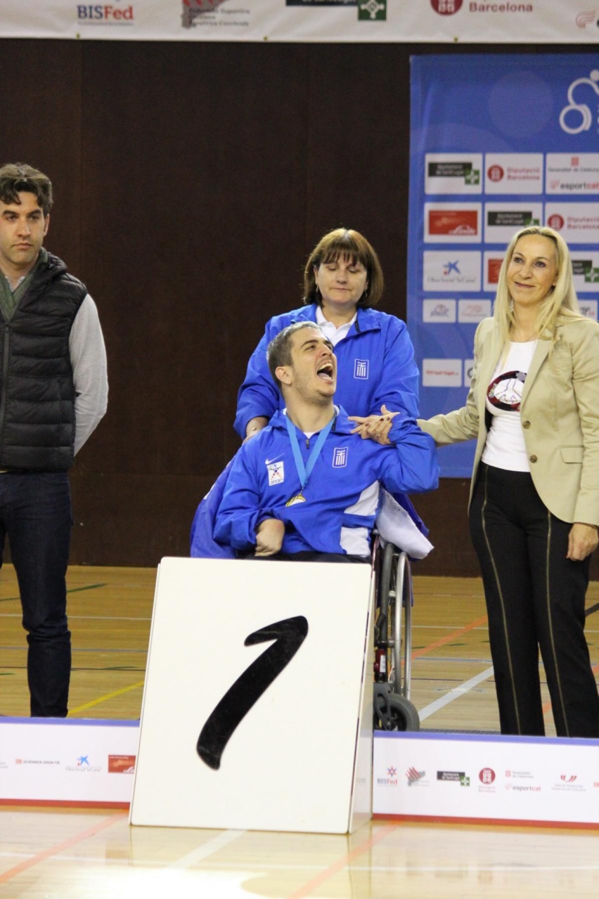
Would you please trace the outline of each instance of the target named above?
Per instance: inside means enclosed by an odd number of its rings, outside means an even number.
[[[420,414],[464,404],[474,332],[506,246],[549,225],[571,251],[584,315],[599,299],[599,54],[411,59],[408,324]],[[441,450],[470,476],[473,441]]]

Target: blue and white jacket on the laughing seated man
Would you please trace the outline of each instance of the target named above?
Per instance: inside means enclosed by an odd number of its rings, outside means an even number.
[[[379,483],[396,493],[434,490],[438,485],[435,442],[413,421],[397,415],[383,447],[352,434],[353,424],[340,408],[322,452],[304,488],[305,503],[286,506],[299,493],[300,481],[286,430],[277,412],[269,425],[244,443],[229,471],[216,512],[214,538],[249,550],[256,528],[267,518],[284,521],[282,551],[349,553],[366,556],[378,507]],[[304,463],[316,436],[298,431]]]

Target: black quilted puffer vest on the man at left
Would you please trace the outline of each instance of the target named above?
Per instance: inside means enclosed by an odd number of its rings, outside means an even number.
[[[73,464],[68,337],[86,293],[48,254],[10,322],[0,316],[0,468],[65,471]]]

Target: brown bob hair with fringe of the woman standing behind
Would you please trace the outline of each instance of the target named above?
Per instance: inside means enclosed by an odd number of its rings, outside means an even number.
[[[373,247],[368,243],[366,237],[361,235],[359,231],[352,231],[351,228],[337,227],[334,231],[325,234],[314,247],[308,262],[305,263],[304,269],[304,305],[317,303],[322,306],[322,297],[320,291],[316,289],[316,279],[314,278],[314,268],[326,263],[335,263],[343,256],[344,259],[350,260],[354,265],[362,263],[366,269],[366,290],[357,301],[357,306],[368,308],[376,306],[379,299],[383,296],[384,278],[383,269],[379,258],[375,254]]]

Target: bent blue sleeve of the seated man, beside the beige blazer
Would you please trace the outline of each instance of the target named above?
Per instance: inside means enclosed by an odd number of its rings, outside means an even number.
[[[425,493],[439,485],[435,441],[413,419],[397,415],[389,440],[394,449],[381,453],[379,480],[391,493]]]

